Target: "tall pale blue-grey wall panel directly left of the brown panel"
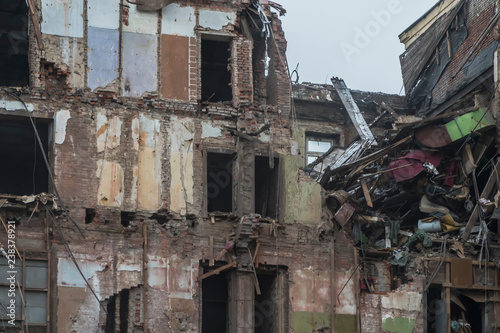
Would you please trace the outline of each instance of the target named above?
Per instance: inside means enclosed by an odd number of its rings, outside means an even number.
[[[123,33],[124,96],[140,97],[146,91],[157,90],[158,39],[155,35]]]

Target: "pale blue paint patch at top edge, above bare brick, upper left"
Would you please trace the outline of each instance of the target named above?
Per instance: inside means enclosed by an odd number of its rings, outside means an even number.
[[[83,0],[42,0],[42,33],[83,37]]]

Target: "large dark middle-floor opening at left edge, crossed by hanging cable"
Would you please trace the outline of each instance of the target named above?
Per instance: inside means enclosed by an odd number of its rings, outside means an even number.
[[[49,123],[35,120],[45,153],[48,152]],[[0,116],[0,193],[48,192],[49,173],[29,118]]]

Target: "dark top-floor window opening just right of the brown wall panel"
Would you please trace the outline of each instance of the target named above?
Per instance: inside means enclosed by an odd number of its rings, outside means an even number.
[[[229,40],[201,40],[201,100],[227,102],[233,99]]]

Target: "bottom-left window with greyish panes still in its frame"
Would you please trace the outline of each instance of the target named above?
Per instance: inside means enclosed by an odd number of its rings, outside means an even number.
[[[12,271],[15,273],[9,273]],[[11,274],[16,277],[15,296],[12,298],[9,295],[10,281],[7,280]],[[15,299],[14,326],[16,329],[12,332],[23,331],[26,323],[30,332],[47,332],[47,292],[48,265],[46,260],[25,259],[21,261],[16,258],[16,267],[12,269],[7,259],[0,257],[0,304],[4,305],[0,306],[0,320],[5,324],[5,326],[0,324],[0,327],[12,327],[8,323],[12,318],[7,316],[11,311],[7,306],[11,304],[12,299]],[[26,304],[24,307],[23,300]]]

